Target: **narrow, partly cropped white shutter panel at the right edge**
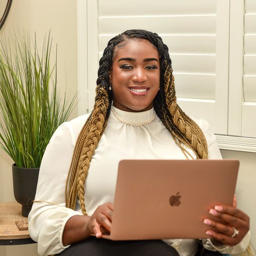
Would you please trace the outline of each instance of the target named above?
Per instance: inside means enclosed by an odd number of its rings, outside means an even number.
[[[256,137],[256,1],[230,2],[228,134]]]

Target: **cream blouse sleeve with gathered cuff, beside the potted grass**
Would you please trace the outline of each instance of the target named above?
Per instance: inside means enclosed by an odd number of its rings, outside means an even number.
[[[76,134],[84,123],[82,117],[74,120],[79,125],[66,122],[55,131],[42,159],[35,203],[28,217],[29,234],[38,241],[40,255],[60,253],[67,248],[62,244],[65,224],[73,215],[81,214],[65,207],[65,186]]]

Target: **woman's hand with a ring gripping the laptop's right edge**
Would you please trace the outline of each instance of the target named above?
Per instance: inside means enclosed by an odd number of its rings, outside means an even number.
[[[204,220],[204,224],[214,229],[206,231],[214,244],[234,246],[244,238],[250,229],[249,216],[237,209],[236,205],[236,196],[234,195],[233,207],[217,205],[214,209],[210,209],[209,213],[215,217],[215,220],[207,218]]]

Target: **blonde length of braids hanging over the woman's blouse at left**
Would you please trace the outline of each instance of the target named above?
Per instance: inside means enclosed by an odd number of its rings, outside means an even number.
[[[84,215],[87,215],[84,204],[84,182],[88,174],[90,161],[108,121],[108,119],[106,119],[109,106],[108,93],[99,85],[97,86],[97,90],[97,95],[101,96],[99,97],[99,100],[96,100],[91,115],[81,129],[75,145],[66,182],[67,207],[75,209],[76,198],[78,196],[80,207]]]

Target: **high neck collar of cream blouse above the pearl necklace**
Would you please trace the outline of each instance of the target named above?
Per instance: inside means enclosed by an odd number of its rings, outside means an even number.
[[[125,122],[130,122],[133,124],[140,124],[144,122],[148,122],[150,119],[154,117],[154,108],[151,108],[148,111],[143,112],[128,112],[120,110],[119,108],[115,108],[112,106],[113,111],[115,111],[116,115]],[[111,111],[111,116],[116,119]],[[116,119],[117,120],[117,119]]]

